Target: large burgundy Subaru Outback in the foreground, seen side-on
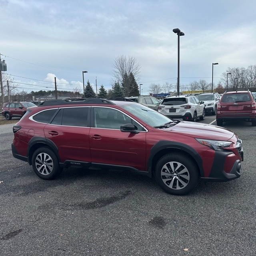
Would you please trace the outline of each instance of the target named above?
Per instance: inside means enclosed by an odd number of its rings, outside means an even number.
[[[12,154],[42,179],[65,167],[124,170],[156,178],[176,195],[198,179],[240,177],[242,141],[230,130],[172,120],[142,104],[106,99],[49,100],[13,126]]]

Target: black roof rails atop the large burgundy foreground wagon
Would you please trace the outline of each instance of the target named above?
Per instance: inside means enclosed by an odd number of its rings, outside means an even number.
[[[100,98],[88,98],[88,99],[66,99],[66,100],[46,100],[38,106],[58,106],[58,105],[70,105],[70,104],[111,104],[113,102],[100,99]]]

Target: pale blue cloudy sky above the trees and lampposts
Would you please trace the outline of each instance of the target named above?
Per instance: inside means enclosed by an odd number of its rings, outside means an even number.
[[[256,64],[254,0],[0,0],[0,54],[20,90],[111,88],[113,62],[132,56],[150,84],[214,84],[228,67]]]

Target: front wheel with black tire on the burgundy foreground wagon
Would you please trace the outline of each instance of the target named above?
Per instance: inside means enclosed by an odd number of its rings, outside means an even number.
[[[156,182],[165,192],[178,196],[190,193],[199,179],[195,162],[179,153],[162,156],[156,164],[154,175]]]

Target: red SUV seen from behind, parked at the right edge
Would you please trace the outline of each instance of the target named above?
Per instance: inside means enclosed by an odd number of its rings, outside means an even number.
[[[223,122],[232,120],[252,122],[252,126],[256,126],[256,103],[250,91],[222,95],[216,114],[217,125],[222,126]]]

